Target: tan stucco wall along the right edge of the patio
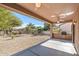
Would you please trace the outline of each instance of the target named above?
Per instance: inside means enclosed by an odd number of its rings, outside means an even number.
[[[73,23],[74,28],[74,47],[76,48],[77,54],[79,54],[79,8],[74,14]]]

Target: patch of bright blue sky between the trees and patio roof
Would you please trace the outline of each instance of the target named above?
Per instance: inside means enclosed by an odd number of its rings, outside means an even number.
[[[44,22],[42,22],[40,20],[37,20],[35,18],[32,18],[30,16],[25,16],[25,15],[22,15],[22,14],[19,14],[19,13],[15,13],[15,12],[13,12],[13,15],[18,17],[23,22],[22,25],[27,25],[29,23],[33,23],[36,26],[43,26],[44,25]]]

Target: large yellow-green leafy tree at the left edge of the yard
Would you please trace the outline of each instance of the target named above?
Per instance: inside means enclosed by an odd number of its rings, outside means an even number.
[[[20,26],[22,21],[12,14],[9,10],[0,7],[0,29],[6,34],[11,32],[13,27]]]

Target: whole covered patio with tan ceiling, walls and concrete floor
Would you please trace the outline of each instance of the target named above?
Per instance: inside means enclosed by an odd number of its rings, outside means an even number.
[[[79,4],[75,3],[1,3],[1,7],[50,24],[50,39],[15,56],[71,56],[79,54]],[[53,32],[53,24],[71,22],[71,34]]]

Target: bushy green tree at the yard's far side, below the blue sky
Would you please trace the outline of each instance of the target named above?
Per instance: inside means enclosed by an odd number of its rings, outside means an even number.
[[[42,31],[43,31],[43,28],[41,26],[36,27],[32,23],[29,23],[26,27],[26,32],[33,35],[40,34]]]

